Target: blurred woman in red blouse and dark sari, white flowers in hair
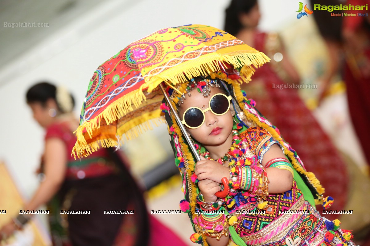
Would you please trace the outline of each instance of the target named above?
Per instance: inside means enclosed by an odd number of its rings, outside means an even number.
[[[41,183],[21,210],[47,205],[54,246],[147,245],[148,215],[135,180],[118,152],[101,149],[75,160],[71,150],[78,120],[74,99],[63,87],[42,82],[28,89],[27,104],[33,118],[46,131],[41,157]],[[138,192],[129,193],[136,190]],[[90,214],[61,214],[60,211],[90,211]],[[104,211],[134,210],[134,215],[104,214]],[[10,236],[31,219],[20,214],[0,230]],[[130,230],[127,230],[130,228]],[[120,231],[121,229],[121,231]],[[145,232],[140,235],[137,232]]]

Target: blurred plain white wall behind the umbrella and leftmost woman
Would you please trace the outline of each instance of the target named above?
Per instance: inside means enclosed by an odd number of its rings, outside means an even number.
[[[77,99],[78,114],[92,73],[102,62],[161,28],[208,24],[222,29],[227,4],[221,0],[105,1],[103,7],[97,6],[6,64],[0,70],[0,159],[26,197],[37,187],[33,172],[43,150],[43,129],[33,121],[25,103],[28,87],[43,79],[63,84]],[[277,30],[297,21],[298,1],[285,5],[283,0],[260,1],[261,28]]]

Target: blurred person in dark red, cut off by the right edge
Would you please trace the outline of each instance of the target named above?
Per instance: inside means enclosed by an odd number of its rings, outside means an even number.
[[[311,0],[311,4],[320,4]],[[327,5],[339,5],[339,0],[328,0]],[[351,0],[345,5],[367,4],[368,1]],[[366,14],[367,11],[351,10],[347,13]],[[342,14],[343,11],[330,13]],[[370,164],[370,18],[369,16],[332,17],[327,11],[313,13],[317,28],[324,39],[329,54],[329,66],[322,76],[323,89],[319,102],[327,95],[330,82],[334,75],[340,73],[346,83],[347,102],[354,130],[362,147],[366,162]]]

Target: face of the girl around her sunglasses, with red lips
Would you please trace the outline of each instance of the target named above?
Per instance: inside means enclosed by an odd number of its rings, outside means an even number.
[[[210,98],[217,93],[222,93],[218,88],[210,87],[210,89],[211,95],[208,97],[203,97],[202,93],[196,90],[191,91],[191,96],[186,96],[184,104],[181,104],[179,107],[179,117],[181,120],[186,109],[198,107],[205,110],[209,107]],[[201,127],[191,129],[185,126],[185,128],[196,141],[205,146],[220,145],[231,136],[233,115],[235,115],[235,111],[230,103],[230,110],[226,114],[215,115],[211,110],[208,110],[204,113],[205,119]]]

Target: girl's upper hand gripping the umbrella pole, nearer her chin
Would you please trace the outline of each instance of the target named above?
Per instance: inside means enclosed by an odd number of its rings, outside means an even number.
[[[201,160],[196,163],[194,173],[198,176],[199,181],[210,179],[217,183],[221,183],[223,177],[227,179],[230,177],[230,170],[228,167],[214,160],[206,160],[203,156],[201,156]]]

